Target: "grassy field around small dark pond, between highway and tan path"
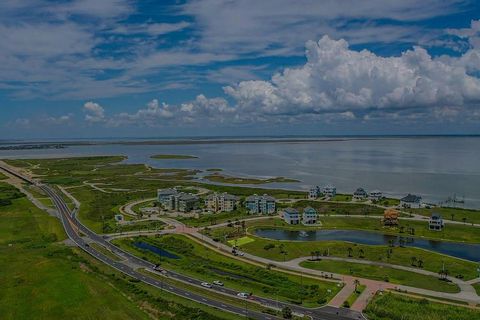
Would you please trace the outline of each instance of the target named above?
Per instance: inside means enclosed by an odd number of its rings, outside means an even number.
[[[144,241],[174,253],[180,259],[160,257],[136,248],[133,243]],[[339,288],[333,282],[289,275],[254,266],[214,252],[180,235],[136,237],[114,240],[125,250],[159,263],[167,269],[191,275],[204,281],[221,280],[226,286],[254,295],[275,298],[306,306],[319,306],[329,301]],[[329,292],[330,290],[330,292]]]

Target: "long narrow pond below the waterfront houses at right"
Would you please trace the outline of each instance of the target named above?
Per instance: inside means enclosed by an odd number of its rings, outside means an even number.
[[[449,242],[439,240],[428,240],[422,238],[400,237],[372,231],[361,230],[313,230],[313,231],[294,231],[285,229],[256,229],[254,234],[274,240],[290,241],[348,241],[366,245],[388,245],[393,241],[395,245],[404,242],[406,247],[415,247],[426,249],[449,256],[480,261],[480,244],[467,244],[460,242]],[[404,241],[403,241],[404,240]]]

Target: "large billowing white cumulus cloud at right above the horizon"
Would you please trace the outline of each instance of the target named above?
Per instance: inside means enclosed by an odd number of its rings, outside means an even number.
[[[354,51],[328,36],[306,44],[307,63],[270,81],[242,81],[224,88],[238,109],[270,115],[373,112],[471,106],[480,81],[458,63],[432,58],[420,47],[398,57]]]

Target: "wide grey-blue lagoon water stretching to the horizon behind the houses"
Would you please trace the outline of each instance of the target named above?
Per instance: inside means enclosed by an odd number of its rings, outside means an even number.
[[[198,159],[154,160],[153,154],[189,154]],[[379,189],[439,203],[456,195],[480,208],[480,137],[343,138],[311,142],[182,145],[99,144],[52,150],[0,151],[0,158],[126,155],[128,163],[166,168],[222,168],[240,176],[284,176],[299,183],[267,187],[308,190],[333,184],[338,192]]]

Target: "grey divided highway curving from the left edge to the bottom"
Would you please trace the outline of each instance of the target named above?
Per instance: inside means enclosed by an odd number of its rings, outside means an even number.
[[[3,170],[9,172],[10,174],[13,174],[17,176],[18,178],[27,181],[28,183],[33,183],[36,184],[38,187],[40,187],[42,190],[44,190],[52,199],[54,202],[55,206],[58,209],[58,212],[60,214],[60,219],[62,221],[63,227],[68,235],[68,237],[81,249],[89,253],[90,255],[94,256],[95,258],[99,259],[103,263],[111,266],[112,268],[115,268],[119,270],[120,272],[123,272],[135,279],[138,279],[144,283],[147,283],[149,285],[152,285],[154,287],[157,287],[162,290],[169,291],[171,293],[177,294],[179,296],[185,297],[190,300],[197,301],[202,304],[206,304],[212,307],[216,307],[218,309],[222,309],[228,312],[232,312],[238,315],[242,315],[248,318],[252,319],[279,319],[277,317],[271,316],[271,315],[266,315],[260,312],[256,311],[251,311],[248,310],[247,308],[241,308],[233,305],[228,305],[224,304],[220,301],[216,301],[210,298],[207,298],[202,295],[198,295],[193,292],[189,292],[187,290],[175,287],[170,284],[164,284],[161,280],[157,278],[150,277],[148,275],[142,274],[140,272],[137,272],[137,268],[145,268],[145,269],[153,269],[155,267],[154,264],[145,261],[143,259],[140,259],[126,251],[121,250],[120,248],[114,246],[110,242],[106,241],[103,236],[100,236],[96,234],[95,232],[91,231],[88,229],[86,226],[84,226],[66,205],[64,200],[48,185],[44,184],[39,184],[28,177],[22,176],[15,172],[14,170],[10,169],[9,167],[3,167],[1,166]],[[95,250],[92,248],[87,242],[85,241],[82,237],[79,236],[79,232],[87,236],[91,241],[102,245],[106,248],[108,248],[110,251],[112,251],[114,254],[118,255],[119,257],[124,258],[125,260],[123,261],[114,261],[110,259],[109,257],[103,255],[99,251]],[[167,271],[166,274],[169,278],[183,281],[186,283],[190,283],[192,285],[197,285],[199,286],[200,283],[202,282],[201,280],[197,280],[194,278],[190,278],[187,276],[184,276],[182,274],[178,274],[175,272]],[[225,288],[225,287],[214,287],[212,290],[218,291],[221,294],[226,294],[226,295],[233,295],[236,296],[238,291]],[[310,316],[312,319],[319,319],[319,320],[351,320],[351,319],[363,319],[361,314],[352,312],[351,310],[348,309],[343,309],[343,308],[334,308],[334,307],[322,307],[322,308],[317,308],[317,309],[309,309],[309,308],[303,308],[295,305],[289,305],[285,304],[279,301],[271,300],[271,299],[265,299],[265,298],[260,298],[260,297],[254,297],[254,301],[261,303],[265,306],[270,306],[272,308],[283,308],[284,306],[289,306],[295,313],[298,314],[305,314]]]

